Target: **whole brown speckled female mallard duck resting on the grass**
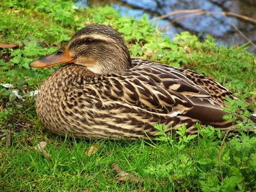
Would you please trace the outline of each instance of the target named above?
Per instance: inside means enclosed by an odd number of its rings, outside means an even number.
[[[55,134],[76,138],[154,138],[154,124],[166,132],[195,123],[226,131],[226,96],[221,84],[185,68],[131,58],[122,37],[109,26],[83,28],[65,47],[32,61],[30,67],[65,63],[45,79],[36,99],[40,121]]]

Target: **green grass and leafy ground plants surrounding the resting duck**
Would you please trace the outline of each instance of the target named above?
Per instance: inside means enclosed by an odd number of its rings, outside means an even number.
[[[84,141],[45,130],[35,110],[34,90],[56,67],[29,68],[29,62],[67,44],[89,24],[107,24],[123,37],[132,56],[196,70],[216,79],[241,100],[256,96],[255,57],[243,47],[217,47],[189,33],[173,42],[143,19],[121,18],[109,6],[76,8],[72,1],[7,1],[0,7],[0,191],[253,191],[256,189],[256,136],[241,131],[227,137],[200,127],[179,138],[159,129],[158,141]],[[156,42],[157,40],[157,42]],[[12,47],[12,46],[11,46]],[[11,87],[6,84],[12,84]],[[19,95],[17,94],[19,93]],[[227,101],[236,121],[241,102]],[[241,109],[243,109],[241,108]],[[251,105],[254,109],[255,106]],[[249,126],[246,121],[241,126]],[[47,143],[44,150],[38,144]],[[144,182],[116,182],[113,163]]]

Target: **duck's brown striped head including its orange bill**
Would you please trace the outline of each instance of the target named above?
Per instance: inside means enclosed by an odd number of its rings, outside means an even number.
[[[131,56],[114,29],[96,24],[77,31],[65,47],[32,61],[29,67],[45,68],[63,63],[83,65],[95,74],[111,74],[131,68]]]

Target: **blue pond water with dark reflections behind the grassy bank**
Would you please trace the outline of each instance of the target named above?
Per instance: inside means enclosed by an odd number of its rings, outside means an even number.
[[[166,35],[182,31],[204,38],[211,35],[216,43],[241,46],[256,55],[256,0],[80,0],[78,6],[109,4],[122,17],[141,18],[145,13],[152,24],[159,24]],[[193,11],[193,12],[192,12]],[[171,14],[170,14],[171,13]],[[226,14],[224,14],[226,13]],[[167,15],[170,14],[170,15]],[[164,17],[159,19],[159,17]]]

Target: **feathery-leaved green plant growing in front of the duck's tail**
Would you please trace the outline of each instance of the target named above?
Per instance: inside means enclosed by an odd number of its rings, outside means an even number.
[[[155,134],[159,136],[157,140],[167,142],[172,146],[173,151],[169,152],[172,157],[170,161],[162,165],[149,166],[145,172],[161,179],[168,177],[170,182],[177,185],[179,183],[179,186],[187,189],[244,191],[244,183],[249,181],[247,174],[251,175],[256,172],[255,166],[250,163],[255,156],[256,139],[246,135],[243,131],[248,128],[253,129],[253,127],[255,129],[256,125],[248,118],[250,112],[246,110],[248,106],[243,101],[227,98],[225,102],[230,108],[223,108],[229,113],[223,118],[233,122],[233,126],[241,131],[240,135],[225,142],[229,131],[221,132],[220,129],[214,129],[212,126],[202,127],[197,123],[195,127],[198,129],[198,134],[186,136],[185,125],[173,131],[172,134],[166,134],[168,129],[165,125],[154,125],[159,130]],[[243,121],[237,120],[241,117]],[[230,127],[230,130],[234,127]],[[179,136],[179,141],[172,138],[173,134]],[[195,141],[195,138],[198,138],[198,141]],[[246,150],[241,154],[242,146]],[[250,155],[248,151],[252,154]],[[189,177],[193,177],[192,183]]]

